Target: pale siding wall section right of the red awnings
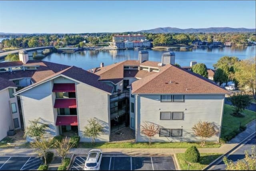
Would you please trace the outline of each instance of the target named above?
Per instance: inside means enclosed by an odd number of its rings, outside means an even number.
[[[76,84],[76,99],[78,112],[78,131],[82,142],[91,142],[88,137],[83,137],[82,131],[88,125],[88,120],[95,118],[104,127],[104,134],[96,142],[109,141],[109,109],[108,94],[86,84]]]

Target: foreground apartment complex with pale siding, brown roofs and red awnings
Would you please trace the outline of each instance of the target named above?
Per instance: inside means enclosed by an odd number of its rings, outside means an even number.
[[[218,135],[209,141],[220,137],[225,94],[229,91],[174,66],[174,52],[166,52],[161,62],[153,62],[148,60],[147,51],[140,51],[138,60],[102,64],[89,71],[29,61],[26,52],[19,55],[20,62],[0,63],[0,69],[5,70],[0,78],[30,84],[14,91],[21,102],[24,127],[40,118],[49,125],[50,136],[72,131],[81,142],[90,142],[82,131],[88,120],[95,118],[104,127],[96,142],[110,141],[110,135],[124,127],[134,130],[137,142],[144,142],[148,139],[140,128],[150,122],[160,127],[152,141],[200,141],[192,127],[201,120],[211,121],[218,128]],[[32,141],[30,137],[27,140]]]

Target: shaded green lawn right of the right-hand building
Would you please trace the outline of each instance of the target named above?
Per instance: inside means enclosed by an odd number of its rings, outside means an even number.
[[[241,122],[241,125],[244,126],[256,118],[256,113],[254,111],[250,111],[247,109],[242,111],[245,117],[234,117],[230,115],[230,113],[233,112],[232,111],[233,108],[234,108],[233,106],[227,105],[227,104],[225,104],[224,106],[222,130],[221,130],[220,137],[225,137],[229,135],[232,131],[238,130],[240,122]]]

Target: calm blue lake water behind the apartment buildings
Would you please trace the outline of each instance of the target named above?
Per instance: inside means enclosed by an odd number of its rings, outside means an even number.
[[[147,50],[150,61],[161,62],[164,52],[157,50]],[[188,51],[175,51],[175,63],[180,66],[190,66],[190,61],[206,64],[207,68],[213,69],[215,64],[222,56],[236,56],[240,60],[256,56],[255,46],[232,46],[225,48],[192,48]],[[54,62],[69,66],[76,66],[89,70],[91,68],[100,67],[100,62],[104,62],[104,66],[114,64],[124,60],[138,60],[138,52],[136,50],[86,50],[74,53],[53,53],[43,61]]]

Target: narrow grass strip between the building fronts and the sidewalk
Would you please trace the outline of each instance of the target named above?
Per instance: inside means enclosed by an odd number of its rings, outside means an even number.
[[[202,148],[200,142],[188,143],[188,142],[162,142],[162,143],[80,143],[80,148],[188,148],[191,145],[197,148]],[[221,144],[219,143],[206,143],[203,148],[218,148]]]

